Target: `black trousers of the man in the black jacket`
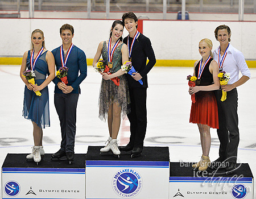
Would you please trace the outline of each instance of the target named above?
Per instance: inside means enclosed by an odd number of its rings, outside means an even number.
[[[127,115],[130,121],[130,142],[133,147],[143,148],[147,128],[147,88],[129,88],[131,98],[131,113]]]

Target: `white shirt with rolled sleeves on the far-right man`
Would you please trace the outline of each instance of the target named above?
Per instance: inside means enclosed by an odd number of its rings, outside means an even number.
[[[218,61],[219,49],[220,49],[220,46],[213,51],[213,59],[217,61],[217,63],[219,63]],[[251,73],[245,62],[245,57],[243,56],[243,53],[241,51],[238,51],[238,49],[234,48],[231,44],[229,44],[229,47],[226,51],[227,53],[226,53],[226,58],[224,60],[224,63],[222,65],[222,71],[225,71],[226,73],[230,73],[230,80],[228,81],[228,84],[234,84],[234,82],[237,82],[239,80],[239,71],[241,71],[243,76],[247,76],[250,78]],[[221,60],[222,60],[222,56],[221,56]]]

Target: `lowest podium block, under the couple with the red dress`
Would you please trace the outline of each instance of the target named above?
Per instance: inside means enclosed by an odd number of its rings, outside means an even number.
[[[193,171],[192,163],[171,162],[169,198],[253,199],[254,179],[248,164],[237,164],[229,175],[224,169],[217,173],[208,177],[207,172]]]

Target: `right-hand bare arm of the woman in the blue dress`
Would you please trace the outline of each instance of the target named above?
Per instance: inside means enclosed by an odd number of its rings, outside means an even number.
[[[46,53],[46,61],[48,64],[49,76],[46,78],[46,80],[44,80],[44,82],[40,86],[34,85],[34,92],[44,89],[49,84],[49,82],[51,82],[55,77],[55,61],[51,51],[48,51]]]

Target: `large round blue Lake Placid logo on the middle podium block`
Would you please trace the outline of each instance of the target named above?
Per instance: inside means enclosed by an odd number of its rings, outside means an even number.
[[[137,196],[141,192],[142,184],[141,175],[130,168],[120,169],[112,179],[114,192],[123,198]]]

